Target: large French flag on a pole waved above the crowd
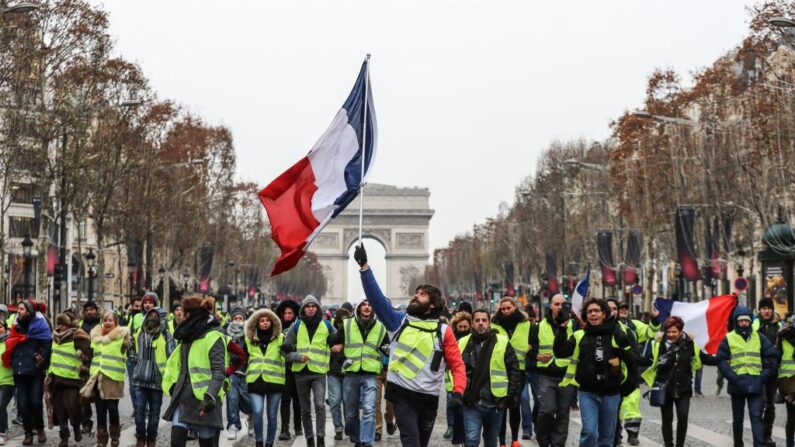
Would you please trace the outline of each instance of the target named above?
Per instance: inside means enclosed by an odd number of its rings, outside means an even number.
[[[359,193],[373,165],[377,130],[369,57],[348,99],[306,157],[259,193],[281,249],[271,275],[293,268],[312,240]],[[364,148],[364,149],[362,149]]]

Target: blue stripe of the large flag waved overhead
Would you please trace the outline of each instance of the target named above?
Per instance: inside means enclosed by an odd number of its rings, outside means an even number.
[[[356,79],[356,85],[354,85],[353,90],[351,90],[351,94],[348,95],[348,99],[345,100],[345,104],[342,105],[342,108],[345,109],[348,114],[348,123],[356,132],[359,150],[356,151],[356,155],[345,166],[345,185],[348,187],[348,190],[337,197],[337,200],[334,201],[334,204],[337,205],[337,208],[334,211],[334,215],[332,217],[337,217],[337,215],[341,213],[345,207],[347,207],[348,204],[353,201],[354,198],[356,198],[356,195],[359,194],[359,185],[361,184],[362,175],[362,130],[364,129],[365,121],[367,123],[367,146],[365,148],[364,166],[365,171],[370,170],[370,163],[373,160],[373,143],[375,138],[372,119],[372,98],[369,98],[368,101],[370,106],[367,107],[367,116],[365,117],[364,114],[364,100],[366,96],[365,89],[367,88],[368,83],[367,64],[368,61],[366,60],[362,63],[362,69],[359,71],[359,77]]]

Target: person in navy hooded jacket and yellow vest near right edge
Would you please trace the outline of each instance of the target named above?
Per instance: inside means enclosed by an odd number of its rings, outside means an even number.
[[[765,404],[765,383],[776,375],[778,355],[770,341],[751,327],[751,309],[738,305],[732,312],[734,329],[718,346],[718,369],[729,381],[732,399],[732,432],[734,445],[743,445],[745,406],[751,419],[754,447],[764,445],[762,412]]]

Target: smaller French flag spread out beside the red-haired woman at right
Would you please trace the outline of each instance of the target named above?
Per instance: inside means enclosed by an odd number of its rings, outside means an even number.
[[[728,332],[726,325],[737,306],[737,295],[716,296],[698,303],[657,298],[654,306],[660,311],[660,323],[670,316],[681,318],[685,322],[684,330],[693,336],[702,350],[714,355]]]

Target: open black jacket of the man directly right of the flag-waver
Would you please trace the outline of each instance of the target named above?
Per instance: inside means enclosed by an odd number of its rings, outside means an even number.
[[[470,336],[461,352],[461,359],[467,372],[467,387],[463,396],[466,405],[474,406],[480,403],[507,408],[519,404],[524,377],[522,370],[519,369],[519,360],[510,344],[505,350],[503,359],[508,373],[508,394],[503,398],[495,398],[491,393],[490,364],[496,342],[497,332],[494,330],[481,343],[478,343],[474,336]]]

